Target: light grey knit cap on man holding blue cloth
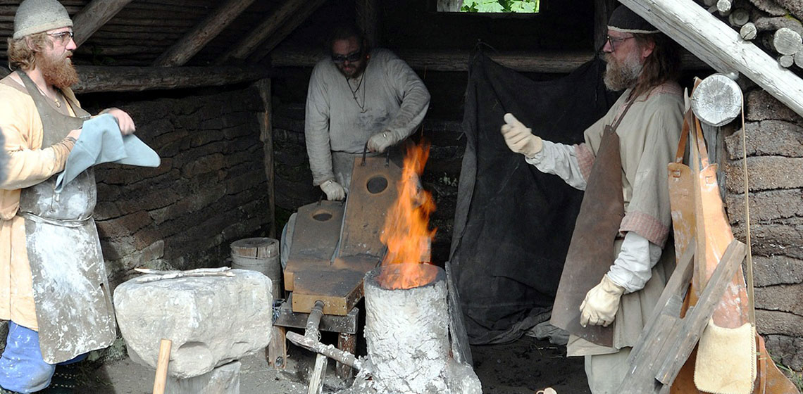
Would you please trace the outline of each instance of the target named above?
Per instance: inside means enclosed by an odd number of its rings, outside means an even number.
[[[58,0],[25,0],[14,15],[14,39],[71,26],[70,14]]]

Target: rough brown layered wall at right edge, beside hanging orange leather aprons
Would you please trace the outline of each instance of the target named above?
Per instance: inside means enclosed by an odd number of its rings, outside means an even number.
[[[760,89],[746,108],[750,233],[758,331],[782,364],[803,369],[803,118]],[[725,137],[728,217],[746,235],[741,128]]]

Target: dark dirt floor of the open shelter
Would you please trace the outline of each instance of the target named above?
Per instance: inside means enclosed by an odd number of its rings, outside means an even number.
[[[306,394],[309,371],[314,355],[288,345],[287,369],[275,371],[268,367],[264,354],[241,360],[240,392],[242,394]],[[582,358],[566,358],[565,347],[548,341],[524,336],[514,343],[471,347],[475,372],[483,384],[484,393],[534,394],[552,387],[559,394],[587,394]],[[79,394],[149,394],[153,392],[155,371],[124,359],[96,365],[84,362],[81,366]],[[324,384],[324,392],[337,392],[349,382],[336,378],[334,362]]]

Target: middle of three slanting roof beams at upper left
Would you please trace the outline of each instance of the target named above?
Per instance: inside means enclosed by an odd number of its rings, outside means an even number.
[[[204,18],[190,32],[178,40],[153,63],[158,67],[174,67],[187,63],[198,51],[217,37],[226,26],[229,26],[254,0],[229,0],[212,14]]]

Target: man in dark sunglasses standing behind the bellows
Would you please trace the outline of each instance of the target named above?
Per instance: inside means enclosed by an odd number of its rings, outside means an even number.
[[[343,200],[354,157],[385,152],[421,124],[430,93],[402,59],[371,49],[353,25],[339,26],[330,58],[312,70],[304,136],[312,182],[328,200]]]

